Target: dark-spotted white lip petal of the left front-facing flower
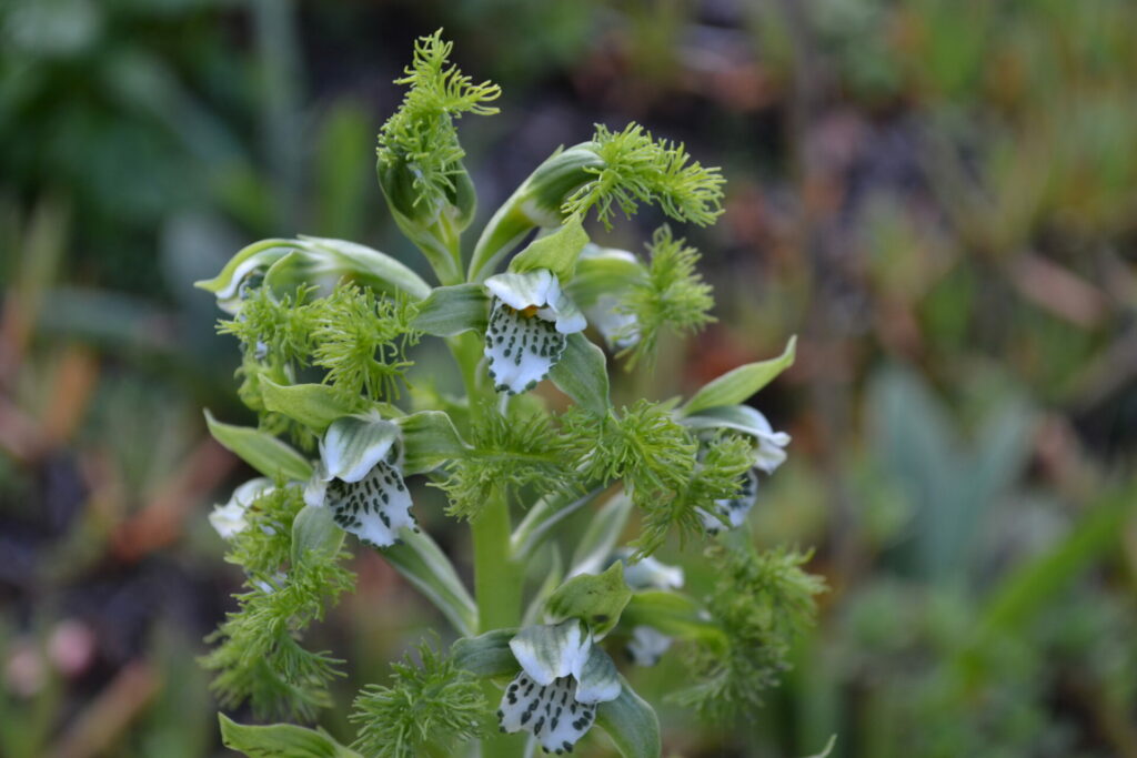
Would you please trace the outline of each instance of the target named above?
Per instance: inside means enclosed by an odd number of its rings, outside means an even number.
[[[376,548],[395,544],[404,526],[417,528],[407,485],[396,468],[382,461],[358,482],[329,482],[324,502],[340,528]]]

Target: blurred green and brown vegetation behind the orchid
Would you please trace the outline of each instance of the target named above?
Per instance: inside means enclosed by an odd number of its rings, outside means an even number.
[[[191,282],[298,233],[422,267],[373,150],[439,26],[505,90],[460,125],[483,218],[595,122],[723,167],[684,230],[720,320],[624,397],[799,335],[755,400],[794,442],[753,539],[815,547],[830,591],[746,723],[667,705],[679,661],[636,672],[664,755],[1137,757],[1131,0],[0,3],[0,756],[223,755],[194,657],[240,577],[205,517],[247,472],[205,432],[242,418],[239,356]],[[441,625],[359,552],[314,642],[351,661],[341,736]]]

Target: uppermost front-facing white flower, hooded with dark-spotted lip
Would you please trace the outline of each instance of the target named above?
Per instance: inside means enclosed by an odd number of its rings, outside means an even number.
[[[485,288],[493,295],[484,349],[493,386],[511,394],[530,390],[561,359],[565,335],[583,331],[584,315],[548,269],[498,274]]]

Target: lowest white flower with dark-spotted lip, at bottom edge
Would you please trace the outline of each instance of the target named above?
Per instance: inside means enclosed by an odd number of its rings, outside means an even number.
[[[528,626],[509,649],[522,670],[501,697],[501,730],[531,732],[547,752],[571,752],[596,720],[598,703],[620,697],[615,664],[575,619]]]

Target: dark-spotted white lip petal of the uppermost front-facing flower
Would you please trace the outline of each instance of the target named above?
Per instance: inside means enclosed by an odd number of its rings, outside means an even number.
[[[532,389],[561,359],[565,343],[549,322],[496,302],[483,350],[493,388],[514,394]]]

